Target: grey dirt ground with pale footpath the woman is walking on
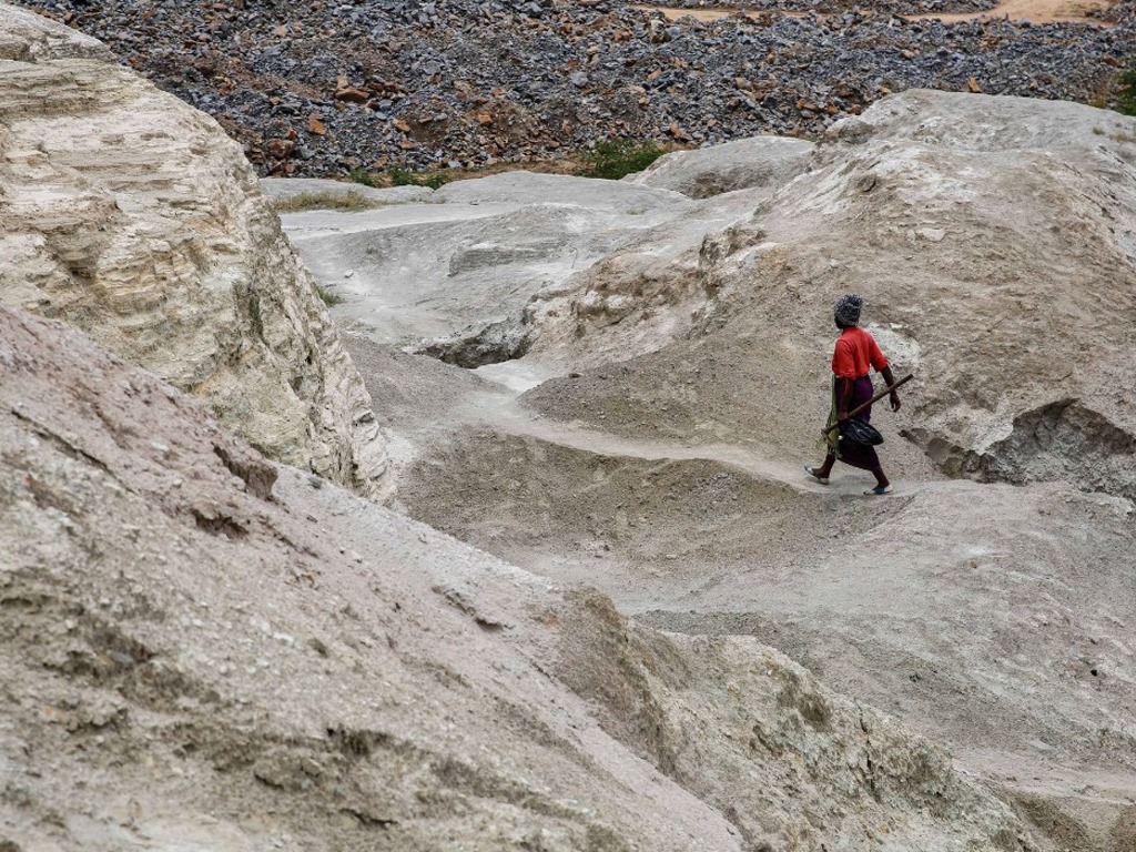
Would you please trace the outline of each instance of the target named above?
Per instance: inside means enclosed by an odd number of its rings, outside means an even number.
[[[544,417],[520,394],[556,370],[532,361],[349,349],[402,449],[412,517],[644,624],[771,644],[1013,795],[1093,825],[1136,796],[1126,742],[1088,738],[1118,725],[1130,653],[1113,620],[1130,584],[1094,557],[1130,541],[1111,499],[944,479],[864,498],[855,471],[813,484],[808,459],[757,441]],[[1114,673],[1104,692],[1085,660]]]

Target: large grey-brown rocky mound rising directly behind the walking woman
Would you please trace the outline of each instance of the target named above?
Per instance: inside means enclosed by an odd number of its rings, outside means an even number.
[[[902,425],[942,470],[1136,496],[1124,461],[1136,449],[1136,406],[1119,390],[1136,316],[1136,120],[910,91],[836,125],[808,170],[774,191],[702,203],[716,202],[743,212],[703,231],[685,274],[675,268],[662,289],[669,324],[652,301],[660,289],[642,283],[649,260],[613,254],[529,306],[534,356],[578,369],[673,344],[688,364],[712,346],[753,394],[782,401],[768,436],[801,453],[795,412],[824,394],[830,304],[858,292],[885,349],[919,375]],[[660,233],[645,235],[643,258],[671,250]],[[645,390],[655,379],[644,375],[601,392],[644,403],[670,393],[660,364],[635,371],[658,375],[658,386]],[[683,417],[701,416],[708,395],[720,428],[744,434],[750,402],[712,387],[679,404]]]

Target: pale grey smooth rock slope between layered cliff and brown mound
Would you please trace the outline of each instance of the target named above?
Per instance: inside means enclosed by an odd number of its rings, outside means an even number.
[[[333,310],[340,321],[474,367],[524,353],[531,303],[556,299],[573,275],[693,208],[668,190],[512,172],[375,210],[282,218],[304,262],[344,300]]]

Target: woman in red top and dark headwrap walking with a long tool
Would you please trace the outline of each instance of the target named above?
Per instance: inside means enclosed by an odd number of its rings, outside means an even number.
[[[833,404],[828,414],[828,425],[837,424],[837,428],[826,433],[828,441],[828,453],[825,456],[825,463],[820,467],[805,465],[804,471],[819,482],[821,485],[828,484],[828,475],[833,470],[836,459],[845,465],[870,470],[876,477],[876,487],[869,488],[864,494],[889,494],[892,484],[879,463],[879,456],[876,448],[869,444],[858,444],[852,441],[842,441],[840,433],[849,421],[849,411],[858,406],[868,402],[872,398],[871,376],[869,368],[875,368],[879,373],[888,387],[895,384],[892,376],[892,368],[887,358],[880,351],[876,339],[860,327],[860,310],[863,308],[863,299],[855,293],[842,295],[833,308],[836,327],[841,329],[841,336],[836,339],[836,346],[833,351]],[[900,395],[893,390],[889,394],[892,410],[900,410]],[[857,415],[864,423],[871,419],[871,406]]]

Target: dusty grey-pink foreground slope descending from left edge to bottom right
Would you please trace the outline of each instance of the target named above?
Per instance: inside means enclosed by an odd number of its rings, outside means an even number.
[[[772,650],[633,627],[0,331],[7,847],[1033,847]]]

